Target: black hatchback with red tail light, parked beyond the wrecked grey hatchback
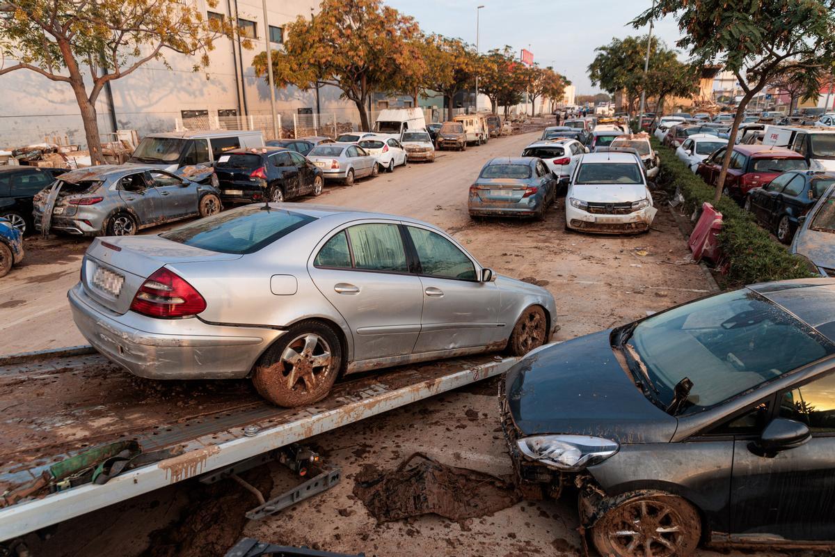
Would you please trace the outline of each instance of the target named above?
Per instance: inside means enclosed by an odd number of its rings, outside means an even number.
[[[321,195],[325,181],[311,161],[290,149],[235,149],[215,162],[220,199],[226,203],[282,201]]]

